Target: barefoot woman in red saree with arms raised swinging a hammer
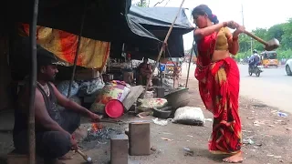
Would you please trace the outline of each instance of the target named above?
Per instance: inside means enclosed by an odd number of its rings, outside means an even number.
[[[198,56],[195,77],[204,106],[214,114],[209,150],[230,154],[224,162],[243,161],[242,131],[238,114],[239,70],[230,54],[238,52],[238,36],[245,31],[234,21],[219,23],[207,5],[193,9]],[[227,27],[236,29],[233,34]]]

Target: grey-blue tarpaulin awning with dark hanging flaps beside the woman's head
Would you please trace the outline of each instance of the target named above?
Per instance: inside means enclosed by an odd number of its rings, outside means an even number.
[[[132,5],[128,18],[130,24],[140,24],[158,39],[164,40],[178,11],[178,7],[139,7]],[[166,51],[166,57],[184,56],[183,35],[192,30],[193,26],[183,9],[173,26],[172,34],[168,41],[169,51]],[[128,43],[127,50],[130,51],[132,58],[141,59],[143,56],[156,58],[161,46],[162,44],[146,45],[141,44],[141,42],[135,42]]]

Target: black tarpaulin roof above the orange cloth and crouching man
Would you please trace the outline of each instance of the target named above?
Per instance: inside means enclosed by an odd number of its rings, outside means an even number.
[[[30,23],[32,2],[8,1],[7,19]],[[122,38],[127,28],[126,15],[131,0],[40,0],[38,5],[38,26],[47,26],[79,35],[85,13],[82,36],[101,41]],[[85,12],[84,12],[85,10]],[[120,37],[119,37],[120,36]]]

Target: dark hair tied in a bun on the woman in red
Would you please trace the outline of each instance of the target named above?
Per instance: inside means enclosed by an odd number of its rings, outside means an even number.
[[[212,13],[212,10],[208,7],[208,5],[198,5],[194,7],[192,15],[208,15],[211,22],[214,24],[219,23],[217,16]]]

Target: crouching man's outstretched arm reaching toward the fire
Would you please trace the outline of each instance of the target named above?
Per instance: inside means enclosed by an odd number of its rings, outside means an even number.
[[[54,93],[57,97],[57,102],[59,105],[61,105],[64,108],[67,109],[72,109],[75,110],[78,113],[84,114],[88,117],[90,117],[93,113],[90,112],[87,108],[83,108],[81,106],[79,106],[76,102],[71,101],[70,99],[68,99],[67,97],[65,97],[64,95],[62,95],[58,90],[57,87],[55,87],[54,84],[50,83],[50,85],[53,87],[54,89]]]

